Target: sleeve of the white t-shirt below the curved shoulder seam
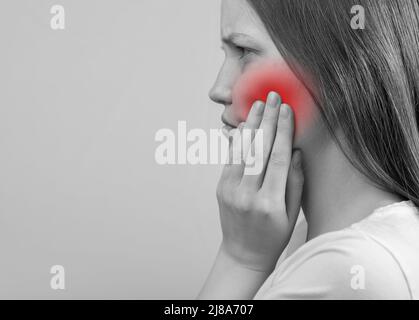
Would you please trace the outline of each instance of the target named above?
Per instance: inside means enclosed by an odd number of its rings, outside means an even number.
[[[259,300],[411,299],[397,259],[360,232],[313,239],[268,279]]]

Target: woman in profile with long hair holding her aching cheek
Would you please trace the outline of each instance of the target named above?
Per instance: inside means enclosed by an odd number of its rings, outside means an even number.
[[[221,34],[210,97],[227,130],[263,129],[264,170],[224,168],[223,240],[198,298],[418,299],[419,1],[223,0]],[[266,61],[304,106],[277,90],[241,111]],[[306,239],[285,250],[300,208]]]

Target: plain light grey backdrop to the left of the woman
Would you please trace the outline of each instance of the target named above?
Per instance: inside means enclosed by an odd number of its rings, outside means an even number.
[[[52,30],[50,9],[65,9]],[[219,0],[0,2],[0,298],[194,298],[220,166],[160,166],[161,128],[219,128]],[[50,268],[65,268],[52,290]]]

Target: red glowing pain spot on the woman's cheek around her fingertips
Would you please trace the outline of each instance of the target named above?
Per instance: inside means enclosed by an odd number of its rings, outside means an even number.
[[[233,89],[235,116],[240,120],[247,119],[253,103],[256,100],[266,101],[271,91],[277,92],[282,102],[293,109],[296,134],[304,131],[312,118],[314,102],[285,62],[257,64],[243,73]]]

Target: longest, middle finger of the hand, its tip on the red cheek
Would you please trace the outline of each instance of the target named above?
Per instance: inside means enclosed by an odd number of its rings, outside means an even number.
[[[256,155],[256,158],[263,162],[263,169],[261,170],[260,174],[243,176],[241,184],[246,189],[258,190],[262,185],[266,164],[269,159],[269,154],[272,150],[273,142],[275,141],[276,127],[281,103],[281,97],[277,93],[269,93],[259,127],[263,135],[263,153],[261,155],[262,157],[260,157],[260,155]],[[255,142],[257,141],[254,141],[254,143]],[[255,148],[255,152],[258,152],[258,148]]]

